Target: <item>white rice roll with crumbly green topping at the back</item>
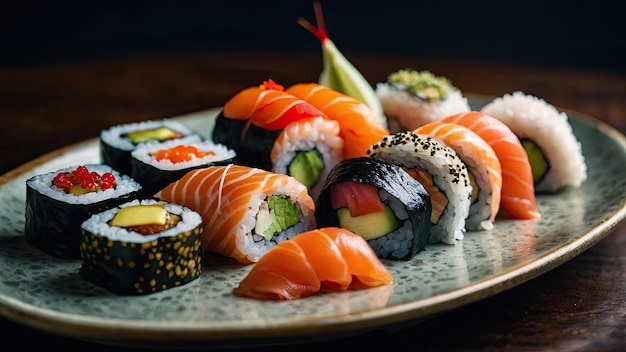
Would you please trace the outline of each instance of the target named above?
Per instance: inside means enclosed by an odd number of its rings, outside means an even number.
[[[445,116],[470,111],[467,98],[452,82],[430,71],[406,68],[376,85],[392,133],[413,131]]]

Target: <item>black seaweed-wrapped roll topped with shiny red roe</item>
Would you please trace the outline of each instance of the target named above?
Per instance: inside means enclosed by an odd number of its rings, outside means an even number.
[[[67,167],[26,181],[26,242],[61,259],[79,259],[80,224],[135,199],[141,185],[108,165]]]

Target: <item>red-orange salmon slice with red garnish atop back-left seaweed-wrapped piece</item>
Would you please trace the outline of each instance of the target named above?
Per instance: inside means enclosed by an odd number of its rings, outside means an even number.
[[[285,92],[282,85],[271,79],[235,94],[224,104],[222,113],[230,119],[250,119],[253,125],[271,131],[301,118],[324,116],[318,108]]]

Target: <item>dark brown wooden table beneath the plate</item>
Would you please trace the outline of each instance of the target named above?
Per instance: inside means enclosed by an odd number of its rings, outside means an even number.
[[[626,132],[626,76],[459,59],[353,55],[371,82],[398,68],[428,69],[461,90],[499,96],[522,90]],[[240,89],[272,78],[316,81],[321,55],[187,53],[100,59],[0,70],[0,175],[48,151],[96,137],[114,124],[221,106]],[[616,160],[615,162],[626,162]],[[3,343],[25,349],[131,350],[33,330],[0,318]],[[16,336],[19,337],[16,339]],[[618,351],[626,346],[626,222],[576,258],[529,282],[392,332],[310,347],[355,343],[424,351]],[[396,345],[397,344],[397,345]],[[256,351],[302,346],[260,347]]]

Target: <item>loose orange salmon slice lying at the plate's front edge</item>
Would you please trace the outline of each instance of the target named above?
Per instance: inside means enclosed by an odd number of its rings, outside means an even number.
[[[346,291],[391,284],[365,239],[340,227],[303,232],[268,251],[234,289],[240,297],[293,300],[322,288]]]

